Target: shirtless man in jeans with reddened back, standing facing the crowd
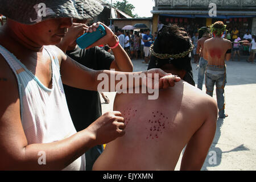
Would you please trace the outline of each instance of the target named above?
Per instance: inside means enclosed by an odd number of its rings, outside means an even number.
[[[218,116],[228,117],[225,114],[224,88],[226,85],[226,65],[225,60],[231,57],[232,43],[230,40],[223,39],[226,26],[223,22],[216,22],[211,26],[214,38],[208,39],[204,43],[204,59],[208,61],[205,73],[205,86],[207,94],[213,96],[214,85],[216,84],[216,95],[218,104]]]

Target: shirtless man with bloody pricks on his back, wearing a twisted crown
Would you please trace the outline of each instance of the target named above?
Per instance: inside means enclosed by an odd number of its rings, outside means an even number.
[[[183,78],[191,64],[189,47],[183,29],[163,27],[154,52],[171,55],[160,59],[152,52],[150,64]],[[180,52],[186,55],[170,59]],[[216,131],[216,102],[185,80],[159,90],[158,100],[147,100],[147,95],[117,94],[114,110],[123,114],[126,134],[106,145],[94,170],[174,170],[186,145],[180,169],[201,169]]]

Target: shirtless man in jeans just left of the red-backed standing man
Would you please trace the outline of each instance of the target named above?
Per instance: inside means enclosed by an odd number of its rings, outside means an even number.
[[[197,88],[200,90],[203,89],[203,82],[204,82],[204,75],[205,75],[205,69],[207,67],[207,60],[204,59],[203,52],[204,52],[204,42],[207,39],[212,38],[212,35],[210,34],[210,30],[207,27],[201,27],[199,30],[199,34],[203,35],[200,37],[197,42],[197,48],[196,53],[200,55],[199,60],[199,71],[198,71],[198,79],[197,79]]]

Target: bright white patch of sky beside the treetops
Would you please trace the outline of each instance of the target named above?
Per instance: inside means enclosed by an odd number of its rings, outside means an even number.
[[[122,2],[122,0],[113,0],[112,3],[115,3],[117,1]],[[138,14],[139,17],[152,16],[150,11],[153,10],[153,7],[155,6],[155,1],[153,0],[127,0],[127,1],[135,7],[133,14]]]

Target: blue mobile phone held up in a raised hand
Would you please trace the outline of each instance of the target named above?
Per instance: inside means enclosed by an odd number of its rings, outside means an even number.
[[[92,33],[90,32],[85,33],[84,35],[80,36],[80,38],[76,39],[76,43],[81,49],[84,49],[92,45],[94,42],[101,39],[105,35],[106,35],[105,28],[100,24],[100,26],[98,26],[95,32],[93,31]]]

